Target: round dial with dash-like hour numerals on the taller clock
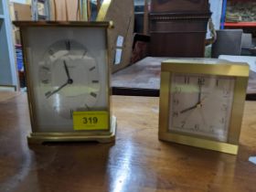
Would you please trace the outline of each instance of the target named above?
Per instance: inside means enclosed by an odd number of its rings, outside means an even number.
[[[74,40],[60,40],[48,48],[39,62],[38,79],[48,106],[67,119],[74,111],[91,110],[101,93],[96,60]]]

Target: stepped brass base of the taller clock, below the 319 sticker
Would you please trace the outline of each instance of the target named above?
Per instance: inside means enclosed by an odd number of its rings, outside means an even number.
[[[112,143],[115,140],[116,117],[112,116],[111,129],[106,133],[83,132],[83,133],[30,133],[27,137],[29,144],[43,144],[52,142],[99,142]]]

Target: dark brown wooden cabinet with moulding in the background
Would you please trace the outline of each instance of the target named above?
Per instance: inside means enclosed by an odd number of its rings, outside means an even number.
[[[206,0],[155,0],[149,15],[150,56],[204,57],[209,12]]]

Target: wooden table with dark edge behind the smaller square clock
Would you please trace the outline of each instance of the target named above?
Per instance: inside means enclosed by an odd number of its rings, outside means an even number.
[[[147,57],[112,74],[113,93],[117,95],[159,96],[162,57]],[[142,90],[142,91],[140,91]],[[250,72],[247,100],[256,100],[256,73]]]

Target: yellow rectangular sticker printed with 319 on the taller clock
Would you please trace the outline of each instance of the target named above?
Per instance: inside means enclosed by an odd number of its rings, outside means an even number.
[[[73,112],[74,130],[108,130],[109,112]]]

